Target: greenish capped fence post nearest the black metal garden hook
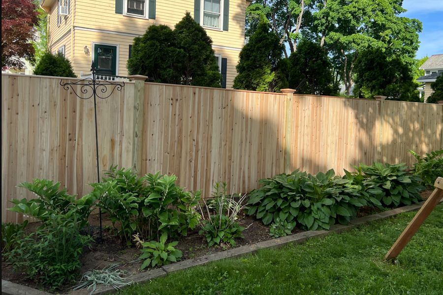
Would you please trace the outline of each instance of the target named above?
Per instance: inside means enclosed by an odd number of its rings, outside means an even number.
[[[128,78],[135,82],[134,85],[134,114],[132,131],[132,170],[141,175],[142,149],[143,149],[143,106],[145,105],[145,80],[142,75],[132,75]]]

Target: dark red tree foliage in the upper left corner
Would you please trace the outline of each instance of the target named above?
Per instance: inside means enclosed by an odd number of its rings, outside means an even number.
[[[33,28],[38,12],[32,0],[1,1],[1,68],[23,68],[34,59]]]

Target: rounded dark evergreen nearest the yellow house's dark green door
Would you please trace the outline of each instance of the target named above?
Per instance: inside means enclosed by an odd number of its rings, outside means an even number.
[[[144,75],[158,83],[180,84],[177,64],[183,52],[176,47],[174,32],[168,26],[152,25],[132,45],[127,60],[130,75]]]

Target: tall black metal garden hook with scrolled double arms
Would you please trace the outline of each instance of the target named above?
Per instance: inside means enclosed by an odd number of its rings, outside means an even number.
[[[118,91],[122,90],[122,87],[125,86],[125,82],[119,81],[109,81],[109,80],[99,80],[96,79],[95,73],[95,64],[94,61],[91,64],[91,73],[92,77],[85,78],[83,80],[77,82],[67,82],[63,83],[63,80],[60,81],[60,85],[63,86],[63,89],[69,90],[72,89],[72,92],[80,99],[90,99],[94,97],[94,115],[95,115],[95,156],[96,156],[96,165],[97,165],[97,182],[100,182],[100,168],[99,168],[99,157],[98,157],[98,128],[97,128],[97,98],[106,99],[114,93],[114,90]],[[81,94],[76,92],[77,88],[74,86],[81,86],[80,92]],[[111,86],[110,92],[108,92],[108,86]],[[101,95],[100,95],[101,94]],[[100,241],[102,240],[102,226],[101,226],[101,208],[99,208],[99,216],[100,216]]]

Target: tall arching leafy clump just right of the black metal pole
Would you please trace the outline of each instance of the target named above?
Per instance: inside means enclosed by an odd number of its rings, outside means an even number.
[[[130,244],[130,236],[156,238],[161,233],[186,236],[200,220],[195,211],[200,192],[191,193],[176,185],[172,175],[147,174],[138,177],[131,169],[111,167],[103,178],[109,189],[93,184],[98,195],[103,195],[98,206],[108,212],[122,239]],[[117,224],[120,228],[117,228]]]

